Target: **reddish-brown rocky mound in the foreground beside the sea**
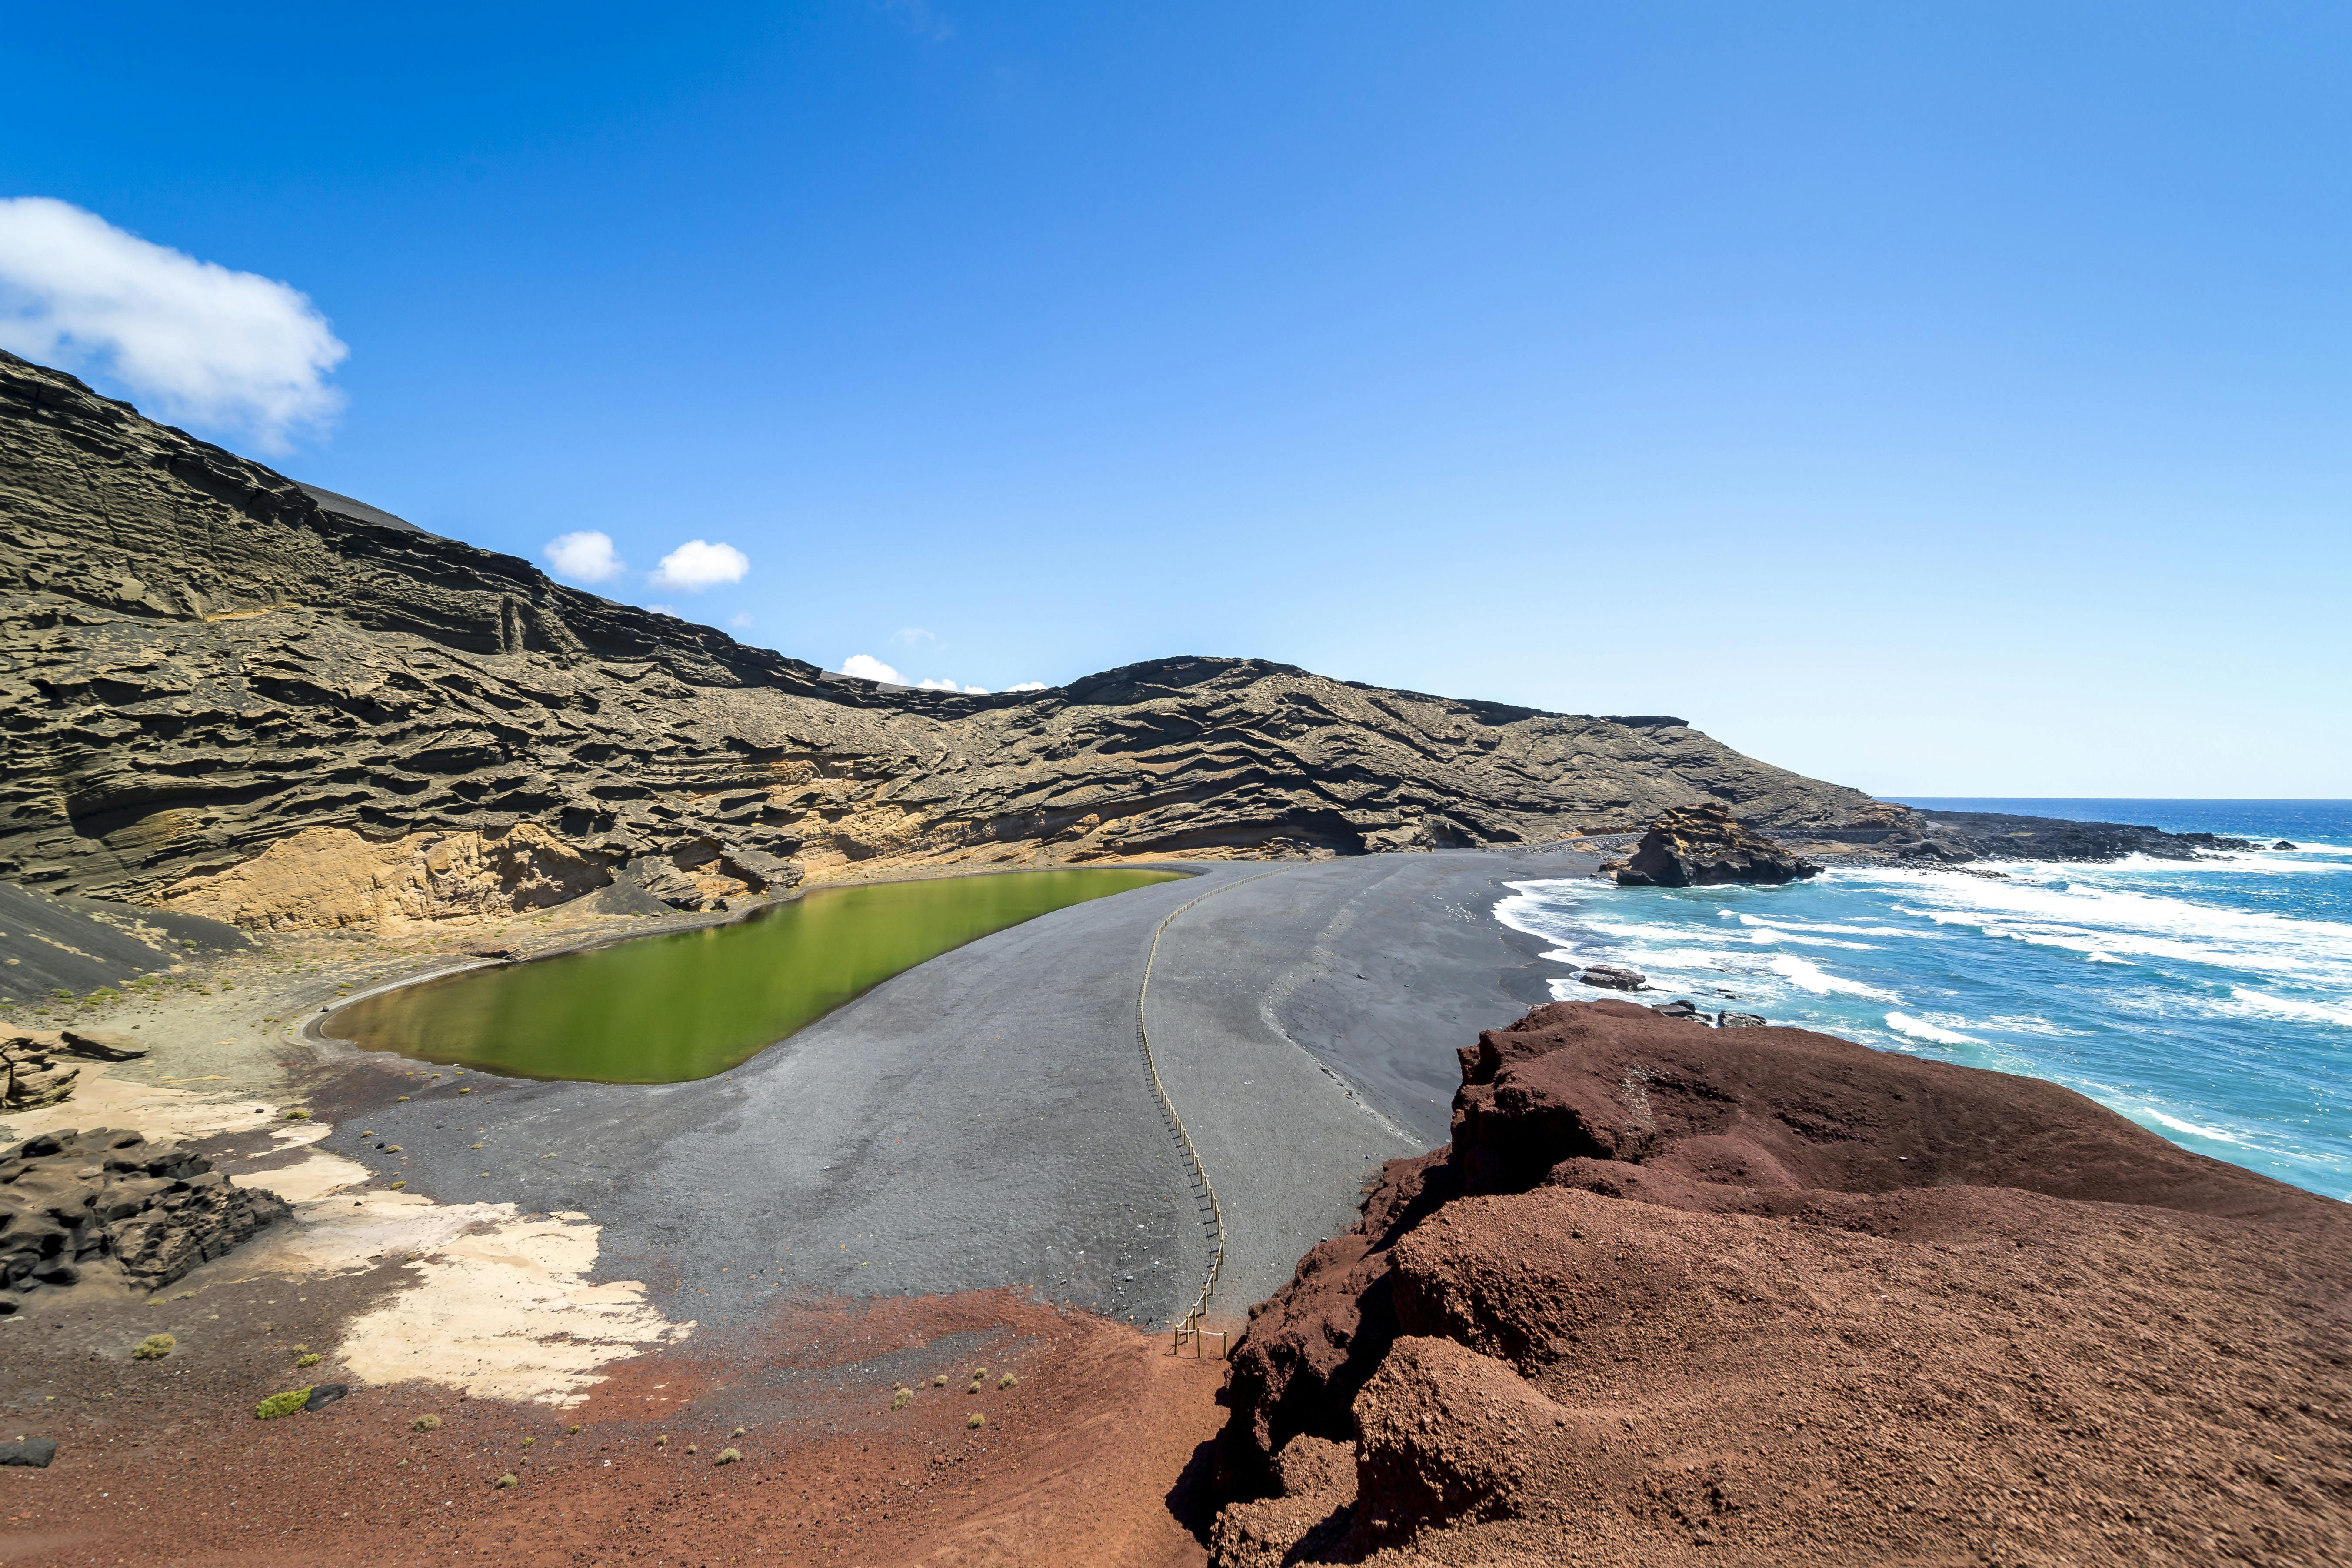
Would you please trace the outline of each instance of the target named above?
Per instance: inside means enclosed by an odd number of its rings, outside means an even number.
[[[1454,1133],[1251,1309],[1214,1561],[2352,1561],[2343,1204],[1623,1001],[1482,1034]]]

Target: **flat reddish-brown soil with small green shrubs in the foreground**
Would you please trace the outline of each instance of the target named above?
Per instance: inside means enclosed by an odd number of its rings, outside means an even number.
[[[315,1375],[287,1371],[292,1335],[332,1338],[383,1284],[310,1286],[294,1319],[278,1281],[270,1333],[261,1300],[212,1291],[228,1328],[207,1319],[207,1345],[249,1349],[165,1361],[125,1359],[127,1302],[9,1328],[0,1420],[61,1450],[0,1469],[0,1561],[1204,1561],[1183,1479],[1223,1415],[1223,1363],[1164,1338],[1004,1293],[802,1302],[757,1335],[626,1361],[574,1410],[395,1385],[256,1422],[261,1394]],[[915,1396],[894,1413],[898,1385]],[[442,1427],[414,1432],[419,1415]],[[743,1460],[717,1465],[729,1446]]]

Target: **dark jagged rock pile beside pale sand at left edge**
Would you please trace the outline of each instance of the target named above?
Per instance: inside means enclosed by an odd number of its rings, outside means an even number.
[[[209,1159],[141,1133],[28,1138],[0,1152],[0,1316],[92,1272],[160,1291],[289,1213],[275,1192],[238,1187]]]

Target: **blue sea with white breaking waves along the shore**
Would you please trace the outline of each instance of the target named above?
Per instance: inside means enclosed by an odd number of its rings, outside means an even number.
[[[1910,799],[2291,851],[1835,867],[1792,886],[1517,882],[1496,917],[1658,999],[2077,1088],[2178,1145],[2352,1197],[2352,802]]]

